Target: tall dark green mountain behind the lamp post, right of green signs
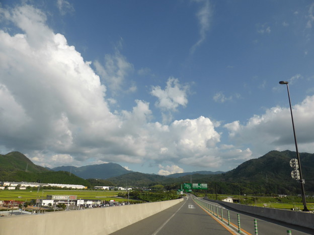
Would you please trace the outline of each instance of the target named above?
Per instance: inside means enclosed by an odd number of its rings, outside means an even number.
[[[302,175],[305,179],[305,192],[312,195],[314,193],[314,154],[299,153],[299,155]],[[290,175],[292,168],[289,162],[292,158],[296,158],[296,153],[289,150],[270,151],[226,173],[192,175],[192,179],[200,183],[207,182],[208,191],[212,193],[217,188],[217,192],[222,194],[300,194],[300,183],[292,179]]]

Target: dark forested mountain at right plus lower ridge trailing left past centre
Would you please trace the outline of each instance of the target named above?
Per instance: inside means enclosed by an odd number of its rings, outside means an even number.
[[[222,194],[298,194],[300,184],[291,178],[289,162],[296,158],[291,151],[271,151],[264,156],[251,159],[237,168],[222,174],[192,174],[179,178],[159,175],[131,173],[109,178],[115,184],[129,182],[130,185],[151,186],[163,184],[167,189],[179,188],[182,183],[207,183],[208,192]],[[314,193],[314,154],[300,153],[305,191]]]

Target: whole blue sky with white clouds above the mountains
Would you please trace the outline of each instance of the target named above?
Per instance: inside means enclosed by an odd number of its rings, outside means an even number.
[[[314,2],[0,0],[0,154],[168,175],[314,153]]]

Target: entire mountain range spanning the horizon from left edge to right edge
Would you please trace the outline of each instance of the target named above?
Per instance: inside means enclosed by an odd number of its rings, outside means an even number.
[[[314,154],[299,155],[305,191],[314,193]],[[89,187],[103,184],[150,187],[162,184],[166,189],[178,189],[182,183],[192,181],[207,183],[208,192],[212,193],[217,191],[224,194],[297,194],[300,193],[300,184],[291,178],[292,168],[289,165],[289,161],[295,157],[296,153],[292,151],[271,151],[228,172],[200,171],[161,176],[128,171],[115,163],[46,169],[33,164],[22,153],[12,152],[0,155],[0,181],[40,180],[43,183],[75,183]]]

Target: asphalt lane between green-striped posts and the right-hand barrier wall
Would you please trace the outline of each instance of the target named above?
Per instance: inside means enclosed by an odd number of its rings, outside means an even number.
[[[215,202],[207,201],[199,198],[201,201],[208,203],[209,205],[218,206],[218,215],[221,214],[221,208],[225,208],[224,205],[220,205]],[[212,208],[212,207],[209,207]],[[304,228],[284,222],[280,222],[274,219],[268,219],[262,216],[252,215],[249,213],[234,210],[232,208],[223,209],[223,218],[227,220],[227,209],[230,214],[230,222],[238,226],[238,213],[240,214],[241,228],[248,231],[248,233],[255,234],[254,232],[254,219],[257,219],[258,233],[259,234],[287,234],[287,230],[291,230],[292,235],[304,235],[314,234],[313,229]],[[215,208],[215,211],[217,209]],[[215,212],[216,214],[216,212]]]

